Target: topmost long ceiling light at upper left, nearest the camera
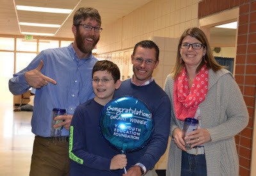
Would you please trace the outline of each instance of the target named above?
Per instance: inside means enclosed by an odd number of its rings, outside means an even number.
[[[26,10],[34,12],[49,12],[49,13],[70,13],[70,9],[62,8],[45,8],[45,7],[35,7],[35,6],[16,6],[17,10]]]

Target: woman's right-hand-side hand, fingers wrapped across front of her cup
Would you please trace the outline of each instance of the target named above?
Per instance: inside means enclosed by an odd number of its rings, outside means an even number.
[[[196,129],[195,131],[191,131],[188,133],[188,136],[185,137],[186,143],[193,143],[191,148],[196,145],[202,145],[203,143],[207,143],[211,141],[211,134],[207,129]]]

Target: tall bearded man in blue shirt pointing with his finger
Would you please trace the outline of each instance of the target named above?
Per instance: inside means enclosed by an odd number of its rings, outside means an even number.
[[[40,52],[28,67],[14,74],[9,81],[13,95],[36,88],[35,107],[31,120],[35,134],[30,175],[68,175],[68,136],[76,107],[95,95],[90,79],[97,59],[92,49],[102,31],[99,12],[94,8],[79,8],[74,15],[74,43],[68,47]],[[60,137],[51,136],[53,108],[66,109]]]

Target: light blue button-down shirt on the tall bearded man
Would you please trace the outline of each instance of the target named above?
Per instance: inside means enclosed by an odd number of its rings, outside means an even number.
[[[51,77],[57,84],[48,83],[47,86],[36,89],[31,125],[34,134],[49,137],[53,108],[66,109],[67,115],[73,115],[79,104],[95,97],[90,79],[97,59],[91,54],[89,58],[79,60],[72,44],[42,51],[28,67],[10,79],[9,89],[14,95],[29,90],[25,72],[38,67],[41,60],[44,61],[42,74]],[[68,132],[63,127],[61,136],[68,136]]]

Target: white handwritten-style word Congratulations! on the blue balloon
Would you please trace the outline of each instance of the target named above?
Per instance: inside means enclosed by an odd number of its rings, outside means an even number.
[[[121,113],[132,113],[133,115],[139,115],[143,116],[145,118],[152,118],[151,113],[144,113],[143,110],[138,111],[137,108],[135,109],[127,109],[127,108],[112,108],[111,106],[108,106],[107,111],[114,111],[116,112],[116,115],[120,115]]]

